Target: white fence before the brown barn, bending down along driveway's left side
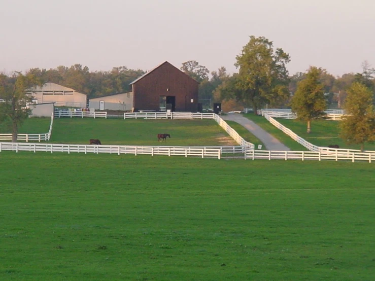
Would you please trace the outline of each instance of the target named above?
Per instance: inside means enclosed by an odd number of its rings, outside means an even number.
[[[192,113],[192,112],[142,112],[124,113],[124,119],[214,119],[234,141],[246,148],[254,149],[254,145],[245,141],[232,127],[230,127],[219,115],[215,113]]]

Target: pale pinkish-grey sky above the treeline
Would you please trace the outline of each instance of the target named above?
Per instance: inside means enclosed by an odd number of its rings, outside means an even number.
[[[375,67],[375,0],[0,0],[0,72],[80,63],[148,71],[196,60],[236,72],[249,36],[289,53],[290,75]]]

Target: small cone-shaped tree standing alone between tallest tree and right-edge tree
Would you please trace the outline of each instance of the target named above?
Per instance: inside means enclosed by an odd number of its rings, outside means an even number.
[[[308,133],[311,132],[311,121],[325,115],[326,100],[320,73],[321,69],[310,67],[306,78],[298,83],[291,102],[292,111],[297,114],[297,119],[308,122]]]

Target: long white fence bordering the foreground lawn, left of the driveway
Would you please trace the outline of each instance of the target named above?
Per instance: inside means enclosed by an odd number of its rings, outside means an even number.
[[[167,155],[201,158],[221,157],[220,148],[207,147],[147,147],[147,146],[96,146],[96,145],[66,145],[66,144],[25,144],[25,143],[0,143],[2,151],[29,151],[29,152],[50,152],[50,153],[108,153],[108,154],[147,154]]]

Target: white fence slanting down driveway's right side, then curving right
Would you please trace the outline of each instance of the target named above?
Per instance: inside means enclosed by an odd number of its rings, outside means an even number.
[[[309,143],[304,138],[298,136],[292,130],[285,127],[284,125],[282,125],[280,122],[276,121],[274,118],[270,117],[269,115],[266,114],[266,115],[264,115],[264,117],[265,117],[265,119],[267,119],[269,121],[269,123],[271,123],[276,128],[280,129],[281,131],[283,131],[284,133],[289,135],[292,139],[294,139],[294,141],[296,141],[298,144],[304,146],[308,150],[318,151],[318,152],[322,152],[322,153],[329,153],[329,154],[336,153],[336,152],[339,152],[339,153],[361,153],[360,150],[356,150],[356,149],[335,149],[335,148],[328,148],[328,147],[318,147],[316,145],[313,145],[313,144]],[[375,151],[365,151],[364,153],[375,154]]]

